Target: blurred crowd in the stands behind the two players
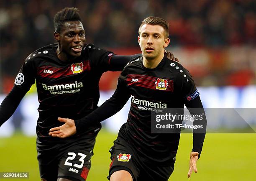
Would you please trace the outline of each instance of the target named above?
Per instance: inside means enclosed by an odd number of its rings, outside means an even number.
[[[0,93],[29,54],[55,43],[53,17],[64,7],[80,9],[87,43],[116,54],[140,53],[141,20],[164,18],[168,50],[198,86],[256,84],[256,0],[1,0]],[[118,74],[106,74],[101,89],[114,89]]]

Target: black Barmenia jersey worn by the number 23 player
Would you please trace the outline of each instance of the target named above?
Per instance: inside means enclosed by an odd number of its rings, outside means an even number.
[[[50,128],[63,124],[57,120],[58,117],[78,119],[95,110],[100,97],[99,81],[102,73],[108,70],[121,71],[128,62],[125,59],[123,61],[114,59],[113,57],[118,56],[113,56],[113,52],[97,48],[93,44],[85,46],[81,56],[70,62],[59,60],[56,49],[57,44],[52,44],[34,51],[26,58],[15,78],[14,88],[20,88],[20,94],[23,96],[36,80],[40,103],[36,133],[41,141],[65,141],[79,136],[74,135],[63,140],[53,138],[48,133]],[[127,59],[129,59],[128,56]],[[129,60],[131,59],[133,58]],[[15,101],[13,97],[19,94],[17,88],[15,90],[15,93],[10,93],[12,99],[9,100],[7,97],[0,107],[1,124],[16,108],[13,106],[12,111],[7,109],[11,104],[10,101]],[[5,116],[5,112],[10,113]],[[100,126],[97,123],[87,127],[83,135],[94,133]]]

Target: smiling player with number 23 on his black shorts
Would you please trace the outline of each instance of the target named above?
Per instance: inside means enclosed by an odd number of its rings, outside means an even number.
[[[133,56],[85,45],[85,31],[77,8],[64,8],[54,16],[57,43],[30,54],[15,85],[0,106],[0,125],[10,118],[36,80],[39,118],[36,146],[42,181],[84,181],[90,170],[100,122],[82,133],[60,140],[49,129],[62,125],[58,117],[80,119],[97,108],[99,81],[105,71],[121,71]]]

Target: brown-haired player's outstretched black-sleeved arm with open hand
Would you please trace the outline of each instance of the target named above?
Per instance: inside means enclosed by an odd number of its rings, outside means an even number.
[[[129,99],[128,88],[124,82],[122,74],[118,79],[118,86],[113,96],[104,102],[95,111],[79,120],[58,118],[65,122],[64,125],[50,129],[49,135],[53,137],[66,138],[75,133],[82,133],[88,126],[106,120],[120,111]]]

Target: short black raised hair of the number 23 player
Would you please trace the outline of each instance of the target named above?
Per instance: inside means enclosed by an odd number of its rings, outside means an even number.
[[[54,15],[54,31],[61,32],[61,28],[67,21],[81,21],[78,8],[64,8]]]

